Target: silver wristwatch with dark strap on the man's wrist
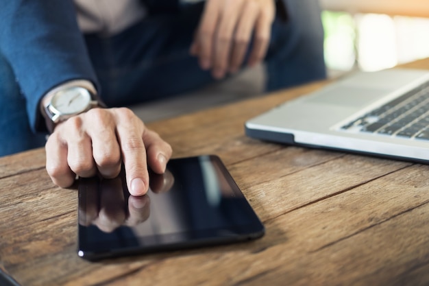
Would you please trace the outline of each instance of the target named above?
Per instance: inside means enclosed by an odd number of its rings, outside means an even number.
[[[97,101],[93,84],[86,80],[73,80],[49,91],[42,98],[40,108],[52,133],[58,123],[97,106],[101,104]]]

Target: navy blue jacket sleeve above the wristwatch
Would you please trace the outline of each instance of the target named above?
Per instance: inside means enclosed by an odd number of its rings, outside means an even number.
[[[38,104],[47,91],[75,79],[90,80],[98,87],[74,3],[0,0],[0,4],[0,51],[27,99],[30,126],[45,130]]]

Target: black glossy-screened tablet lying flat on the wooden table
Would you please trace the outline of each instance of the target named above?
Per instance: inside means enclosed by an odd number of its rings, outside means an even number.
[[[98,260],[247,241],[265,228],[218,156],[171,159],[146,195],[114,179],[79,178],[79,257]]]

